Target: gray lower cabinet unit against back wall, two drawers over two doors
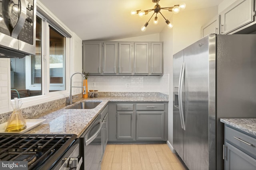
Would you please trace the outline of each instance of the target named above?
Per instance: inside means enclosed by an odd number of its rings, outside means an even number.
[[[109,102],[108,141],[163,142],[168,137],[168,102]]]

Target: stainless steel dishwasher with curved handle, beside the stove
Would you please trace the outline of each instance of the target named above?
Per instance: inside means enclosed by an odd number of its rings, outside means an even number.
[[[80,156],[84,158],[81,169],[100,170],[103,156],[103,146],[101,142],[102,119],[100,115],[94,119],[92,124],[81,135]]]

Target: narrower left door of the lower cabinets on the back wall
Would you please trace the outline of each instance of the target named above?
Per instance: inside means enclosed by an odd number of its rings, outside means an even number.
[[[134,139],[133,111],[117,112],[117,139]]]

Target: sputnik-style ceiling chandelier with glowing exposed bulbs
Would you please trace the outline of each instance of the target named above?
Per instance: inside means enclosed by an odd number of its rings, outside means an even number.
[[[156,5],[154,6],[153,9],[150,10],[132,10],[131,11],[131,15],[136,15],[138,14],[140,17],[143,17],[144,15],[148,14],[151,11],[154,11],[154,14],[156,14],[153,23],[157,24],[158,23],[158,18],[157,18],[157,14],[160,13],[162,15],[162,17],[164,18],[163,14],[160,12],[161,10],[168,10],[173,12],[174,14],[177,14],[178,12],[180,12],[180,10],[185,9],[186,4],[185,3],[181,3],[179,5],[174,5],[171,7],[165,7],[165,8],[161,8],[161,6],[158,4],[160,0],[152,0],[153,3],[156,3]],[[148,26],[148,22],[151,20],[151,18],[154,16],[154,14],[150,17],[150,19],[141,27],[141,31],[146,31],[146,27]],[[165,22],[168,25],[168,28],[172,28],[173,24],[169,21],[166,20],[166,18],[164,18]]]

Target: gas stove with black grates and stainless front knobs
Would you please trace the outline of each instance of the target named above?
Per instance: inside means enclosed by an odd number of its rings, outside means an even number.
[[[79,158],[76,137],[73,134],[0,134],[0,161],[26,161],[28,170],[79,170],[82,158]]]

